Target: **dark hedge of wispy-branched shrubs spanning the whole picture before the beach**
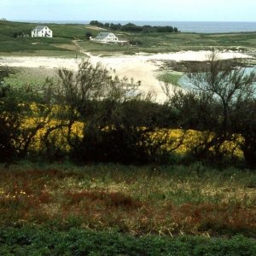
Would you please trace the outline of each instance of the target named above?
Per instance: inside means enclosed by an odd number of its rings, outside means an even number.
[[[138,84],[90,61],[80,63],[77,73],[60,69],[58,82],[47,79],[40,88],[2,83],[0,160],[201,161],[255,168],[255,72],[234,69],[213,51],[207,65],[189,67],[187,76],[191,89],[171,93],[166,84],[163,104],[139,93]],[[180,133],[170,137],[174,129]],[[200,135],[187,143],[184,154],[177,154],[191,131]],[[229,149],[227,142],[233,143]]]

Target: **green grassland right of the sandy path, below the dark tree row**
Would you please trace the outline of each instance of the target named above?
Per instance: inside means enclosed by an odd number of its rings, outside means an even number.
[[[122,40],[138,41],[138,46],[95,44],[83,41],[80,45],[84,50],[98,54],[121,52],[133,54],[135,52],[160,53],[180,50],[231,49],[241,51],[254,51],[256,49],[256,32],[229,33],[229,34],[197,34],[197,33],[117,33]]]

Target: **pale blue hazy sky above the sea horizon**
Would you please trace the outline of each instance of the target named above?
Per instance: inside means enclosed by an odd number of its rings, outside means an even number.
[[[0,0],[1,18],[256,22],[256,0]]]

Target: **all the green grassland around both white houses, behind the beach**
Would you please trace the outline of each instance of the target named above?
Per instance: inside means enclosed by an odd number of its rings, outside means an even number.
[[[30,34],[37,24],[0,20],[0,54],[6,55],[74,55],[91,52],[96,55],[134,54],[135,52],[171,52],[201,50],[212,47],[255,51],[256,32],[225,34],[114,32],[121,40],[138,40],[140,46],[97,44],[85,39],[85,33],[96,37],[99,29],[81,24],[45,24],[54,38],[14,38],[15,32]],[[74,40],[77,43],[74,43]]]

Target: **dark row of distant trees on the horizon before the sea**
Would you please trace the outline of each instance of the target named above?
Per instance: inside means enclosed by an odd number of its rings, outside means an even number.
[[[137,26],[136,24],[133,24],[131,22],[121,25],[120,23],[114,24],[114,23],[102,23],[98,20],[91,20],[90,25],[92,26],[99,26],[106,29],[111,29],[113,31],[123,31],[123,32],[178,32],[177,27],[173,26],[150,26],[150,25],[144,25],[144,26]]]

